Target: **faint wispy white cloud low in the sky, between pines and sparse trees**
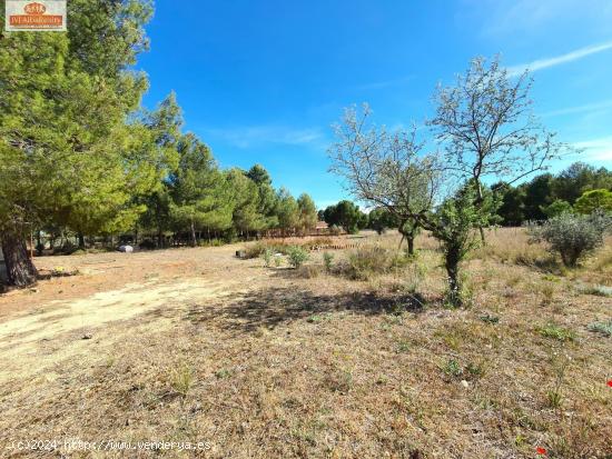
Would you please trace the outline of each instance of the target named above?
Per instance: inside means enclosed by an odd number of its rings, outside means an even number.
[[[263,143],[308,144],[319,142],[324,138],[318,128],[299,129],[277,124],[208,129],[207,133],[238,148]]]

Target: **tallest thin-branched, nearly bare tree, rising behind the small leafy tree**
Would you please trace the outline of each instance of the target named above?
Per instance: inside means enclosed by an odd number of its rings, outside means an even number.
[[[488,66],[484,58],[472,60],[454,87],[437,89],[428,124],[444,144],[448,172],[474,180],[476,204],[484,201],[486,178],[513,183],[546,169],[566,148],[533,116],[531,87],[529,71],[512,76],[495,57]]]

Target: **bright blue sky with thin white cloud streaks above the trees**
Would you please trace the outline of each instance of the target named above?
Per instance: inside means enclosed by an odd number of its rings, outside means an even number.
[[[368,102],[378,123],[432,113],[471,58],[529,66],[535,112],[582,160],[612,167],[610,0],[157,0],[145,102],[171,90],[221,167],[261,163],[319,207],[346,198],[327,172],[330,126]],[[554,164],[559,170],[564,163]]]

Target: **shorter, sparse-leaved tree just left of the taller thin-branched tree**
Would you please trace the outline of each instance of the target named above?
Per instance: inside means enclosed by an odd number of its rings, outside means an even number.
[[[434,156],[423,154],[414,129],[387,132],[369,123],[369,117],[367,104],[361,113],[355,108],[345,110],[329,149],[330,171],[346,179],[353,196],[397,218],[412,255],[416,231],[438,192],[440,166]]]

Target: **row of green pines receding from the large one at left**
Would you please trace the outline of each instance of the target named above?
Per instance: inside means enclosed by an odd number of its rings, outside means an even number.
[[[0,37],[0,245],[9,283],[37,270],[27,239],[67,231],[112,239],[168,233],[253,237],[316,224],[313,200],[275,190],[265,169],[220,170],[210,149],[182,132],[174,94],[156,110],[134,70],[149,41],[147,0],[71,0],[66,33]],[[0,6],[4,17],[4,3]]]

